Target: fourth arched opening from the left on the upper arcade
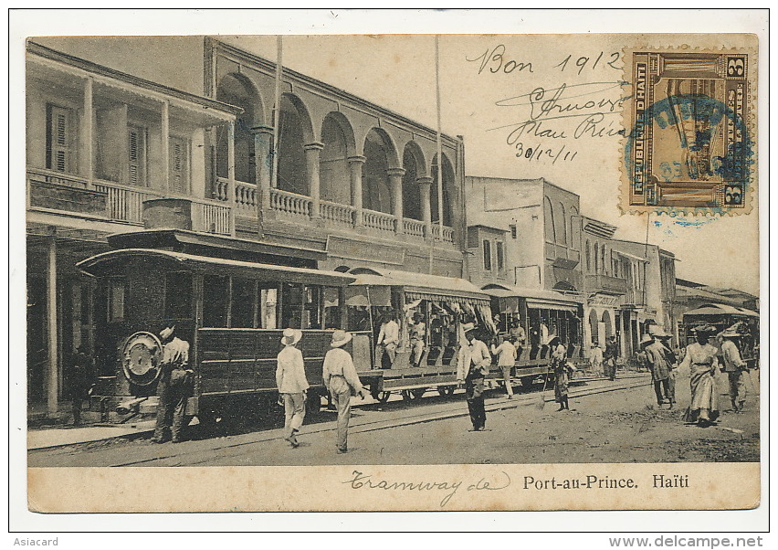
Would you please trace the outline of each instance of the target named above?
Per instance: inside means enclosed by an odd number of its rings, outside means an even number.
[[[364,168],[362,204],[368,210],[392,213],[392,189],[389,185],[390,160],[394,159],[394,147],[384,132],[376,128],[367,132],[364,140]]]

